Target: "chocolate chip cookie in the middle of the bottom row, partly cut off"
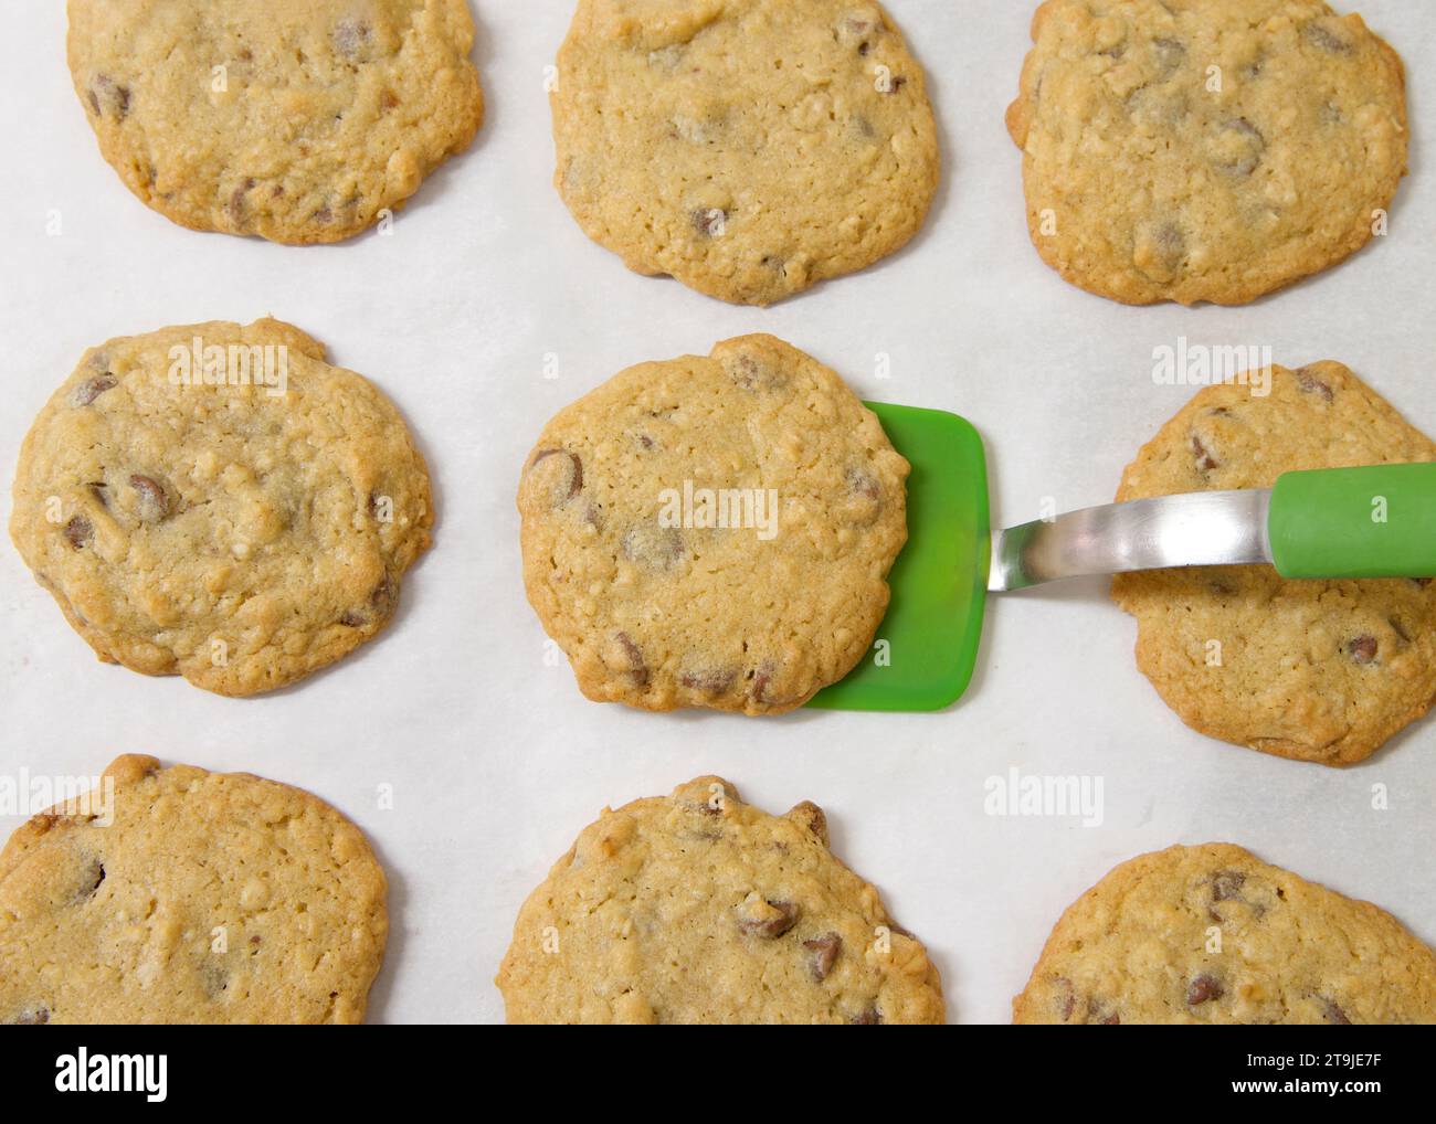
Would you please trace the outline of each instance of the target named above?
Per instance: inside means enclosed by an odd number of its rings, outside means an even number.
[[[518,913],[511,1024],[941,1024],[938,970],[829,851],[823,810],[718,777],[605,810]]]

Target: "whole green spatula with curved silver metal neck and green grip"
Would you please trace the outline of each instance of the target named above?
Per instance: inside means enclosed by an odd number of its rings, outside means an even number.
[[[1288,472],[1271,490],[1109,504],[992,533],[976,431],[942,411],[867,405],[912,464],[908,545],[873,652],[808,706],[951,706],[972,682],[988,591],[1251,563],[1290,579],[1436,576],[1436,464]]]

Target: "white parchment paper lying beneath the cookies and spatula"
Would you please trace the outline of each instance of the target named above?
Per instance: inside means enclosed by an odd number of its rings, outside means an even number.
[[[373,1022],[494,1022],[493,976],[524,896],[605,804],[718,772],[783,811],[821,804],[833,846],[932,949],[955,1022],[1004,1022],[1061,910],[1113,864],[1228,840],[1369,897],[1436,942],[1433,742],[1420,723],[1338,772],[1188,731],[1133,665],[1134,627],[1104,583],[997,601],[982,670],[928,716],[648,715],[586,702],[546,666],[520,580],[514,490],[561,405],[632,363],[764,330],[867,398],[951,409],[982,432],[994,518],[1110,500],[1123,467],[1186,401],[1152,349],[1271,345],[1346,362],[1429,434],[1436,185],[1436,19],[1366,0],[1410,72],[1412,171],[1391,235],[1246,309],[1127,309],[1068,287],[1027,235],[1002,125],[1028,46],[1025,0],[892,0],[925,65],[945,177],[903,253],[775,309],[629,274],[550,185],[543,89],[570,0],[478,0],[488,118],[475,146],[402,211],[392,237],[284,248],[194,234],[102,162],[65,66],[56,0],[7,4],[0,36],[4,300],[0,464],[90,345],[207,319],[287,319],[378,382],[434,472],[434,551],[398,619],[350,659],[233,701],[98,663],[0,545],[0,774],[95,774],[121,752],[251,771],[353,817],[389,873],[392,932]],[[46,223],[59,211],[60,237]],[[560,378],[544,380],[544,356]],[[892,357],[892,379],[875,378]],[[9,507],[4,508],[9,517]],[[1106,821],[984,814],[1010,767],[1104,778]],[[379,810],[391,784],[395,808]],[[1371,787],[1390,810],[1371,810]],[[0,823],[9,830],[14,820]]]

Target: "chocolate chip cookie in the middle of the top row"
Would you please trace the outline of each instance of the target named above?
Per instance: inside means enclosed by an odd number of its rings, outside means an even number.
[[[936,191],[922,69],[864,0],[579,0],[551,102],[584,233],[721,300],[870,266]]]

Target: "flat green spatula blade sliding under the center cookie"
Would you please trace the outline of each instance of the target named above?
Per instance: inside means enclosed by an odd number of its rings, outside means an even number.
[[[972,682],[991,560],[982,438],[943,411],[869,402],[912,464],[908,545],[873,650],[808,703],[827,711],[941,711]]]

